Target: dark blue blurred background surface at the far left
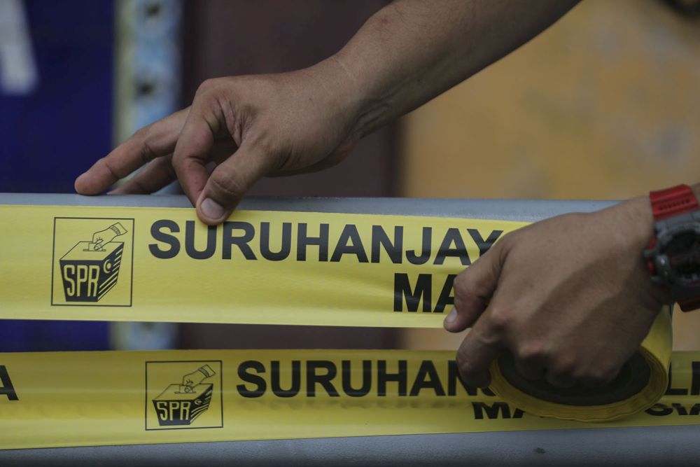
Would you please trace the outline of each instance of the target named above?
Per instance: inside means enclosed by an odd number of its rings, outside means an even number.
[[[0,93],[0,192],[73,193],[111,148],[112,0],[25,0],[38,63],[30,95]],[[0,351],[109,347],[102,322],[0,321]]]

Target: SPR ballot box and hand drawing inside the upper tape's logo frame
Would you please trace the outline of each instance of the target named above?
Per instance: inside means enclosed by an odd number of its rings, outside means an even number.
[[[116,286],[127,233],[120,222],[94,232],[92,242],[78,242],[60,260],[66,302],[98,302]]]

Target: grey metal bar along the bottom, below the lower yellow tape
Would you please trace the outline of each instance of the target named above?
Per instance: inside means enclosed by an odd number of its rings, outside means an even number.
[[[699,426],[367,436],[0,451],[0,465],[692,466]]]

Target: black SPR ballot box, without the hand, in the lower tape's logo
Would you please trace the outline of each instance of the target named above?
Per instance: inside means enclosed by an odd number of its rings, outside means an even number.
[[[153,399],[160,426],[190,425],[209,409],[214,384],[170,384]]]

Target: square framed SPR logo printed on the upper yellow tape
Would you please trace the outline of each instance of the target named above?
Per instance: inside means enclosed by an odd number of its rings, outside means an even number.
[[[132,304],[134,220],[55,218],[51,305]]]

